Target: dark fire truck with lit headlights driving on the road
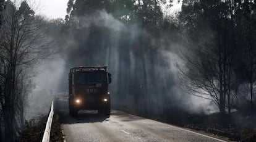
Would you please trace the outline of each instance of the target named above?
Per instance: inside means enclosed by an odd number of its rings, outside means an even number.
[[[69,72],[69,114],[77,116],[79,110],[98,110],[110,115],[108,85],[111,73],[106,66],[74,67]]]

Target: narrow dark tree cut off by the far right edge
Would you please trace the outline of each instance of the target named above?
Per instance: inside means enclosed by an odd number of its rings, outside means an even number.
[[[255,1],[238,3],[242,10],[239,11],[239,27],[241,32],[241,45],[243,46],[242,69],[244,70],[245,82],[249,84],[249,101],[251,110],[254,110],[254,84],[256,81],[256,6]]]

